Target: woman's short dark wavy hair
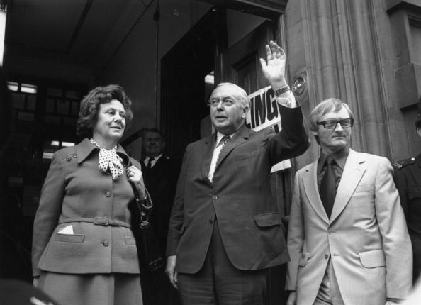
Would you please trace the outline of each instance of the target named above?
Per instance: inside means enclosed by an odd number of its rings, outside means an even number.
[[[130,109],[132,102],[125,94],[123,87],[118,84],[109,84],[105,87],[96,87],[89,91],[80,103],[79,119],[76,123],[76,133],[80,137],[91,137],[92,129],[98,119],[99,106],[107,104],[113,99],[120,101],[125,110],[126,124],[133,118],[133,112]]]

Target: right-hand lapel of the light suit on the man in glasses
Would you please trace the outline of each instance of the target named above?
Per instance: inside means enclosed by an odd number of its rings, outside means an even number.
[[[366,166],[364,165],[366,161],[363,156],[364,155],[357,153],[354,150],[349,150],[344,172],[342,172],[341,182],[337,187],[330,223],[335,221],[335,218],[337,218],[345,206],[347,206],[349,199],[351,199],[352,194],[354,194],[355,189],[361,181],[361,177],[364,172],[366,172]]]

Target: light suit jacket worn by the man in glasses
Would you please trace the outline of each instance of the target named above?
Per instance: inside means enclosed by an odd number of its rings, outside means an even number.
[[[330,219],[320,200],[317,161],[299,170],[288,226],[286,289],[313,304],[328,258],[344,304],[384,305],[412,285],[412,249],[390,162],[349,151]]]

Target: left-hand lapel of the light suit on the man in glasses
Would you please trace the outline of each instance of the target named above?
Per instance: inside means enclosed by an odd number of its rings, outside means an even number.
[[[329,223],[329,218],[325,211],[325,207],[322,204],[320,199],[319,189],[318,189],[318,161],[313,162],[305,172],[303,173],[303,184],[305,194],[307,196],[308,202],[313,206],[316,214],[322,218],[325,223]]]

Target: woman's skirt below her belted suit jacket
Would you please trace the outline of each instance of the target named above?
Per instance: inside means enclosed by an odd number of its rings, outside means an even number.
[[[41,272],[38,287],[62,305],[142,305],[140,277],[128,273]]]

